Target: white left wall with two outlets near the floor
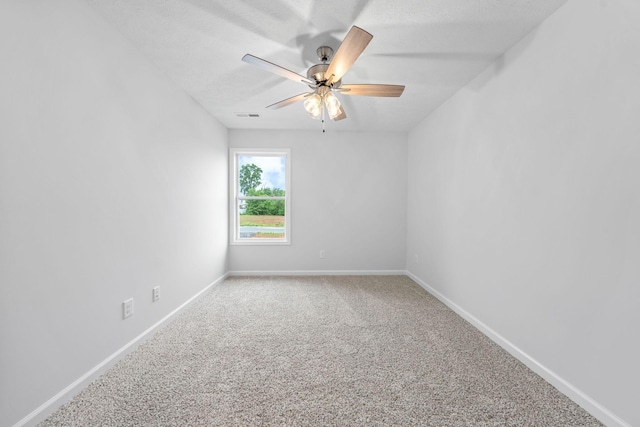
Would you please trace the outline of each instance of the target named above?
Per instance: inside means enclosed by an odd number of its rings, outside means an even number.
[[[226,129],[84,3],[2,1],[0,58],[7,426],[224,275],[228,172]]]

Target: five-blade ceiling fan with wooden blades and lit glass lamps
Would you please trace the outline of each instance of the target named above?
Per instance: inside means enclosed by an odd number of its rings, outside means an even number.
[[[335,55],[333,54],[333,49],[329,46],[320,46],[317,49],[316,52],[322,63],[309,68],[306,77],[250,54],[243,56],[242,60],[279,76],[306,84],[312,89],[311,92],[292,96],[271,104],[267,108],[278,109],[304,100],[304,108],[311,117],[322,119],[324,123],[324,110],[326,107],[329,117],[334,121],[338,121],[346,119],[347,115],[335,93],[356,96],[398,97],[404,91],[404,86],[401,85],[342,84],[342,76],[349,71],[372,38],[373,36],[362,28],[351,27]]]

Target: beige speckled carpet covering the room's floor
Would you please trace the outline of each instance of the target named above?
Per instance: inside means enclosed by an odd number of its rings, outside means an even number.
[[[233,277],[43,426],[599,426],[404,276]]]

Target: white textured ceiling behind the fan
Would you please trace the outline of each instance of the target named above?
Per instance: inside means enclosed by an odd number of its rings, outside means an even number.
[[[245,53],[306,75],[321,45],[352,25],[373,40],[343,83],[406,85],[400,98],[340,96],[327,129],[407,131],[566,0],[86,0],[149,60],[232,129],[320,129],[308,87],[241,61]],[[258,113],[239,118],[237,113]]]

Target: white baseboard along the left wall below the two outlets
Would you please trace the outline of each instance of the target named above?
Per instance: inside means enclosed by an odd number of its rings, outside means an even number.
[[[200,292],[189,298],[186,302],[180,305],[178,308],[173,310],[171,313],[167,314],[160,321],[156,322],[153,326],[149,327],[147,330],[142,332],[140,335],[129,341],[123,347],[121,347],[118,351],[107,357],[105,360],[100,362],[98,365],[93,367],[87,373],[82,375],[80,378],[75,380],[73,383],[69,384],[67,387],[62,389],[58,394],[53,396],[51,399],[44,402],[38,408],[36,408],[29,415],[18,421],[14,424],[13,427],[22,427],[22,426],[30,426],[35,425],[41,421],[44,421],[50,414],[52,414],[55,410],[57,410],[60,406],[62,406],[65,402],[73,398],[76,394],[82,391],[86,386],[88,386],[91,382],[93,382],[100,375],[104,374],[115,365],[119,360],[125,357],[127,354],[131,353],[135,350],[138,345],[143,343],[146,339],[151,337],[152,333],[155,332],[158,328],[166,324],[171,318],[173,318],[176,314],[190,306],[193,302],[195,302],[202,294],[211,289],[212,287],[218,285],[224,279],[229,276],[229,273],[225,273],[223,276],[219,277],[214,282],[207,285]]]

